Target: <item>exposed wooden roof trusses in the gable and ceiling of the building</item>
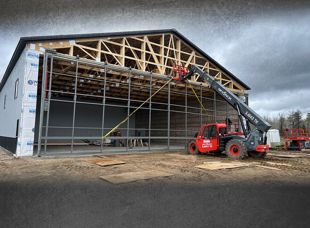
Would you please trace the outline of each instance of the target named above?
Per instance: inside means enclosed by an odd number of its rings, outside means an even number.
[[[238,82],[230,78],[227,74],[222,72],[218,67],[214,66],[206,58],[196,52],[193,48],[189,47],[181,39],[171,33],[161,33],[152,35],[140,35],[140,36],[128,36],[128,37],[102,37],[102,38],[89,38],[79,40],[64,40],[55,42],[38,42],[35,43],[36,49],[39,47],[48,47],[56,49],[58,53],[67,54],[69,56],[79,56],[89,60],[97,62],[107,62],[108,64],[114,64],[121,67],[132,67],[145,72],[153,72],[162,76],[171,76],[173,70],[173,64],[182,65],[184,67],[191,67],[193,64],[201,67],[203,70],[209,72],[209,74],[219,80],[230,91],[236,93],[245,93],[245,88]],[[30,43],[27,44],[30,48]],[[42,64],[40,64],[42,66]],[[41,71],[42,72],[42,67]],[[75,64],[66,62],[64,60],[54,60],[53,72],[59,74],[68,74],[68,76],[59,75],[53,76],[53,90],[69,91],[74,88],[75,79],[70,75],[75,75]],[[90,78],[90,75],[92,78]],[[80,82],[78,86],[78,93],[90,94],[96,91],[100,91],[103,88],[104,72],[100,68],[90,67],[87,65],[79,65],[78,76],[83,77],[83,82]],[[40,77],[39,77],[40,78]],[[102,81],[96,81],[94,79],[101,79]],[[87,79],[87,80],[86,80]],[[113,93],[118,97],[127,98],[128,94],[128,73],[127,72],[107,72],[106,86],[109,90],[106,93]],[[152,82],[156,79],[152,78]],[[200,76],[197,74],[191,77],[191,82],[206,83],[201,81]],[[78,82],[79,83],[79,82]],[[114,86],[111,86],[113,85]],[[119,83],[119,86],[115,86],[115,83]],[[161,87],[165,82],[158,80],[153,88]],[[149,91],[147,87],[150,87],[149,77],[139,77],[132,75],[131,85],[139,86],[131,87],[131,99],[141,100],[144,97],[149,97]],[[153,83],[154,84],[154,83]],[[200,86],[194,86],[200,90]],[[179,94],[173,94],[173,92],[184,91],[185,84],[180,82],[171,83],[170,98],[177,101],[183,100]],[[158,97],[167,99],[168,88],[164,88],[164,91],[158,94]],[[124,91],[122,93],[122,91]],[[188,90],[188,93],[191,92]],[[204,96],[213,97],[213,90],[204,89]],[[200,95],[200,93],[199,93]],[[68,95],[69,96],[69,95]]]

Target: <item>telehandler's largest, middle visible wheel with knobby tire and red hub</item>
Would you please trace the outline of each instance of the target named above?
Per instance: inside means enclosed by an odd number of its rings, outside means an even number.
[[[233,159],[243,159],[246,155],[247,148],[243,141],[239,139],[232,139],[227,142],[225,146],[225,153],[227,157]]]

